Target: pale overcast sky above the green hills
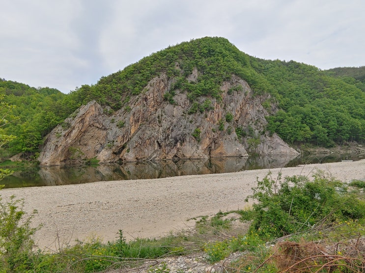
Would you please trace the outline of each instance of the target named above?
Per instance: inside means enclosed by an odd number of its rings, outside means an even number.
[[[0,78],[69,93],[205,36],[263,59],[365,66],[364,0],[0,0]]]

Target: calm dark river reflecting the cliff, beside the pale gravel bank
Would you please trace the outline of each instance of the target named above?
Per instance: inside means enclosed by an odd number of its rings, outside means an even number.
[[[243,170],[295,167],[301,164],[337,162],[346,159],[346,155],[330,155],[325,157],[229,157],[210,160],[186,160],[138,162],[99,165],[96,167],[42,167],[15,170],[14,174],[5,177],[1,184],[5,188],[55,186],[82,184],[96,181],[112,181],[127,179],[162,178],[168,176],[190,174],[219,174]],[[349,157],[357,160],[359,158]]]

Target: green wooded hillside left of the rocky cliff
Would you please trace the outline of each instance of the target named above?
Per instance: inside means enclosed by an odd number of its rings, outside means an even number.
[[[11,114],[18,117],[4,128],[7,134],[17,137],[7,147],[10,154],[37,151],[42,138],[70,114],[66,95],[56,89],[0,80],[0,94],[4,102],[16,106]]]

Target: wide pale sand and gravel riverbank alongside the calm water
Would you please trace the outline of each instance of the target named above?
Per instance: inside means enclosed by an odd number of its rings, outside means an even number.
[[[365,160],[312,164],[271,169],[272,175],[309,175],[323,170],[348,182],[365,179]],[[161,237],[170,230],[193,225],[193,217],[219,210],[244,208],[256,177],[268,169],[228,174],[175,176],[160,179],[123,180],[78,185],[1,190],[4,200],[25,199],[27,211],[36,209],[33,223],[43,223],[36,240],[40,248],[58,248],[93,235],[115,240],[119,229],[127,238]]]

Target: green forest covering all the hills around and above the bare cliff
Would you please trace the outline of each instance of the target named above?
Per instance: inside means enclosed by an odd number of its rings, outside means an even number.
[[[197,82],[187,76],[197,69]],[[155,76],[166,73],[175,83],[165,98],[174,104],[175,92],[196,98],[220,99],[221,84],[237,75],[246,80],[253,96],[265,96],[267,130],[292,144],[331,147],[365,140],[365,67],[321,71],[295,61],[264,60],[238,50],[225,38],[205,37],[152,53],[121,71],[103,76],[69,94],[34,88],[0,78],[0,100],[15,107],[12,122],[2,129],[16,138],[2,157],[23,153],[35,157],[44,137],[82,104],[96,100],[111,111],[129,107],[130,98],[143,92]],[[273,110],[275,109],[275,110]],[[16,118],[15,118],[16,117]]]

